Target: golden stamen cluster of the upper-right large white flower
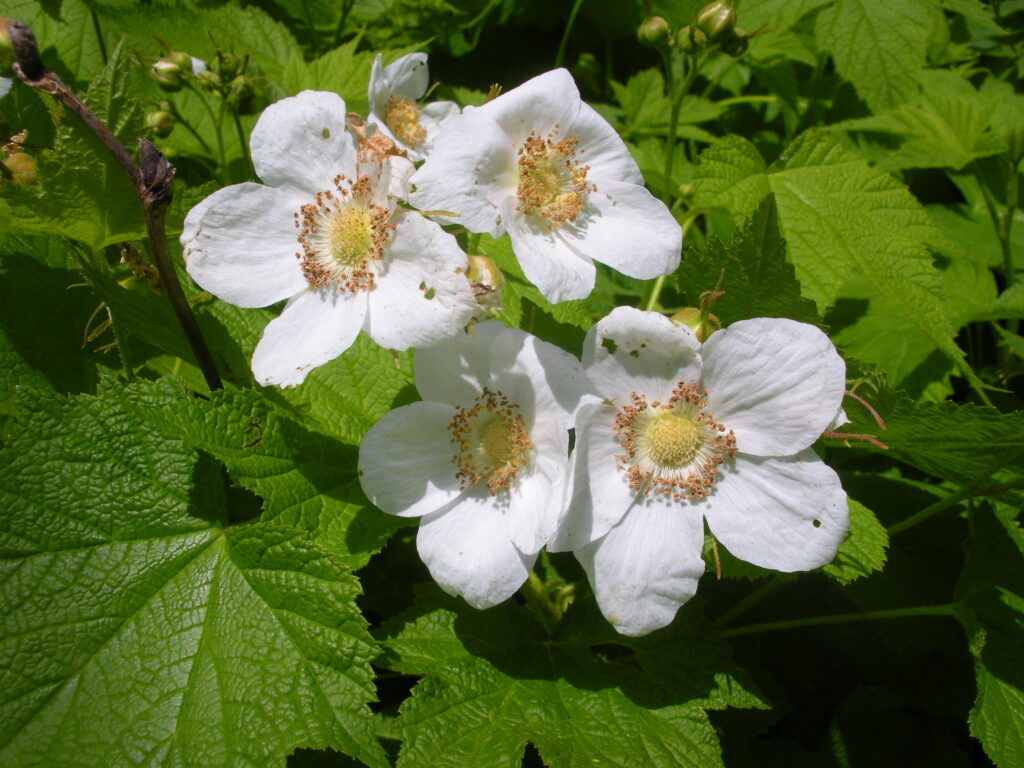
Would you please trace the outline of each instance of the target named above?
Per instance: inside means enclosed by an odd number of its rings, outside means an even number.
[[[530,131],[518,148],[519,183],[516,210],[548,221],[548,226],[575,221],[587,202],[587,193],[596,187],[587,183],[590,166],[581,166],[575,134],[558,139],[556,125],[547,138]]]

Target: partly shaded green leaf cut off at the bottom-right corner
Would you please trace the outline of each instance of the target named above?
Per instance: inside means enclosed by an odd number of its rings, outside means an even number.
[[[967,565],[956,585],[978,681],[971,733],[998,768],[1024,760],[1024,532],[1018,514],[988,505],[972,513]]]

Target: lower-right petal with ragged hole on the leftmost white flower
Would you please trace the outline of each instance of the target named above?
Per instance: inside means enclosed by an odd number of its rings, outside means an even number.
[[[367,335],[382,347],[409,349],[461,333],[478,308],[466,280],[466,254],[418,213],[400,213],[393,221],[369,297]]]

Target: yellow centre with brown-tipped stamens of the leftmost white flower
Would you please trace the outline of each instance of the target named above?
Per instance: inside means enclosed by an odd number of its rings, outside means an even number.
[[[371,203],[371,180],[334,178],[334,188],[316,193],[295,214],[302,273],[314,288],[334,283],[354,293],[375,287],[373,263],[384,254],[394,224],[390,212]]]

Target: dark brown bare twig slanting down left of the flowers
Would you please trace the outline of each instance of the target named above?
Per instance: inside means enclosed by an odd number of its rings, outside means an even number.
[[[142,214],[145,218],[145,230],[150,241],[153,261],[164,284],[164,292],[174,307],[174,313],[185,332],[188,344],[191,346],[196,361],[199,364],[207,386],[222,389],[220,374],[213,362],[213,355],[203,339],[196,315],[193,314],[185,298],[181,284],[178,282],[171,255],[167,248],[167,233],[164,221],[167,207],[174,194],[174,166],[167,162],[160,150],[145,139],[139,139],[139,163],[136,165],[128,151],[118,140],[111,129],[97,118],[92,111],[75,95],[71,88],[54,73],[46,69],[39,57],[39,46],[32,30],[22,22],[13,22],[8,26],[8,33],[14,49],[14,73],[30,88],[55,96],[72,113],[81,118],[82,122],[103,142],[114,159],[128,174],[135,185],[139,200],[142,203]]]

